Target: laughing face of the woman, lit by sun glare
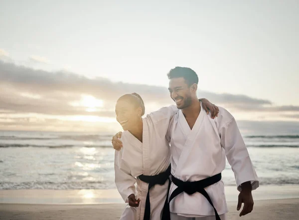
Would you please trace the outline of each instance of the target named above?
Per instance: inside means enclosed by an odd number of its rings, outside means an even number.
[[[116,120],[121,124],[124,131],[132,129],[136,126],[136,122],[140,117],[140,107],[136,108],[130,100],[119,100],[115,106]]]

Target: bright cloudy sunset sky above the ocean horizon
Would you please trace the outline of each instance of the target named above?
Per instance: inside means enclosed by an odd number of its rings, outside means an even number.
[[[173,104],[175,66],[238,123],[298,124],[298,11],[297,0],[0,0],[0,130],[118,131],[125,93],[146,113]]]

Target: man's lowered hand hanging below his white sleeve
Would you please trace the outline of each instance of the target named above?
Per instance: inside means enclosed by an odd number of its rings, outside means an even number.
[[[252,186],[250,181],[241,184],[242,186],[242,191],[239,194],[238,197],[238,206],[237,206],[237,211],[239,211],[241,209],[242,203],[244,203],[243,209],[240,213],[240,217],[241,216],[245,216],[248,213],[251,213],[251,211],[253,210],[253,198],[252,198]]]

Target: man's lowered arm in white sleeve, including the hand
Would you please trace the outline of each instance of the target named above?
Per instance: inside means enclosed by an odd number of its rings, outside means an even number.
[[[240,216],[244,216],[253,210],[251,191],[259,187],[258,176],[233,117],[220,127],[219,133],[221,146],[225,149],[226,158],[235,174],[237,189],[240,191],[237,210],[239,211],[244,203],[240,213]]]

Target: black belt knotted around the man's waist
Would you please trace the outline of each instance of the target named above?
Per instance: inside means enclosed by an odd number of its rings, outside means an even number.
[[[204,188],[211,186],[211,185],[219,182],[220,180],[221,180],[221,173],[216,174],[215,176],[212,176],[212,177],[208,177],[204,180],[194,181],[194,182],[188,182],[188,181],[184,182],[179,179],[176,179],[173,175],[171,175],[171,181],[172,181],[172,183],[174,183],[177,186],[177,188],[170,195],[169,203],[174,197],[176,197],[177,195],[179,195],[182,192],[185,192],[188,195],[192,195],[192,194],[198,192],[198,193],[202,194],[209,201],[211,206],[213,207],[216,220],[221,220],[217,213],[217,210],[215,209],[215,207],[211,201],[211,198],[209,197],[207,192],[204,190]]]

